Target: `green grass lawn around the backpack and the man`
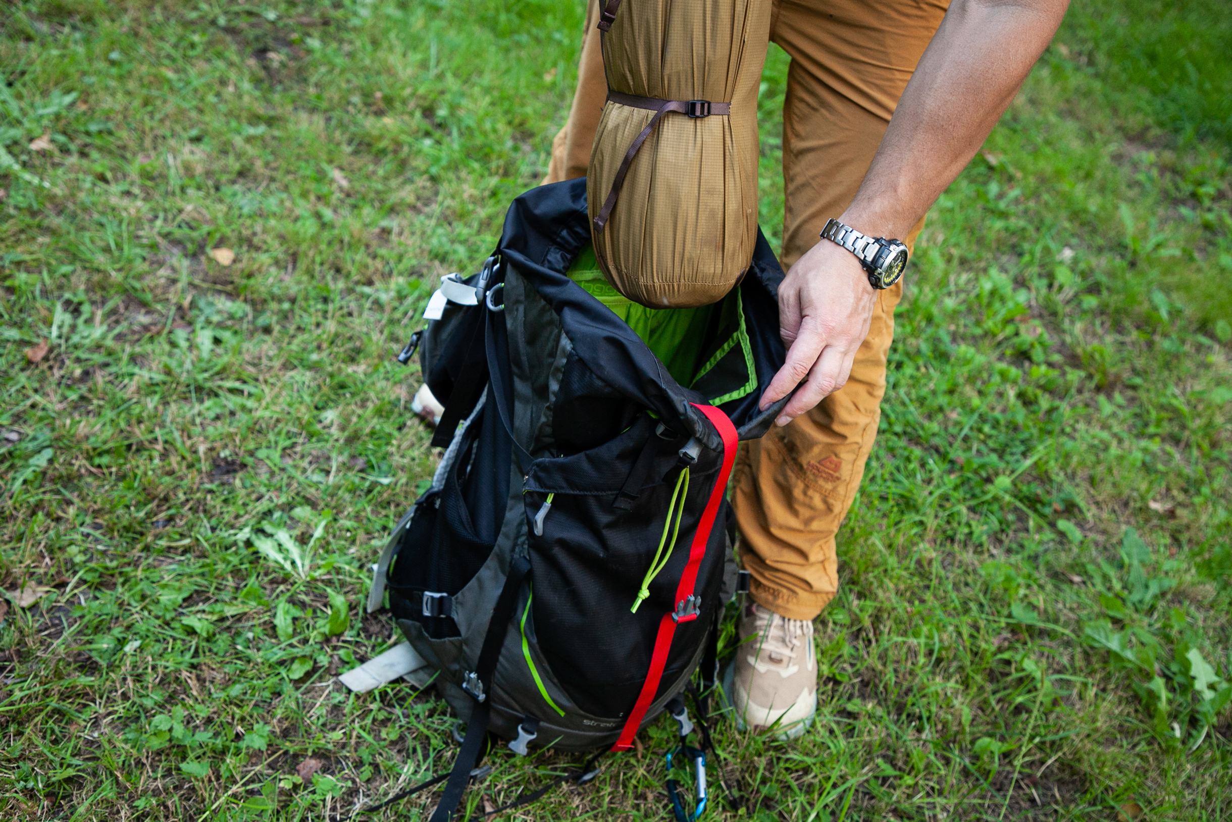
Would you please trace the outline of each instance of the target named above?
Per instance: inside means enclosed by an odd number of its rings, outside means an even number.
[[[713,818],[1232,816],[1228,30],[1164,7],[1076,4],[933,210],[818,722],[781,744],[721,721],[738,796]],[[367,568],[434,465],[392,355],[541,177],[580,25],[0,11],[0,584],[46,589],[0,622],[5,818],[323,820],[447,767],[442,702],[331,674],[393,637]],[[785,75],[772,49],[772,237]],[[257,550],[280,531],[304,567]],[[669,820],[669,725],[519,818]],[[578,762],[498,752],[468,801]]]

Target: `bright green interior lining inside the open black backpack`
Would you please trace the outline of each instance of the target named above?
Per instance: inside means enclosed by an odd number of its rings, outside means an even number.
[[[633,329],[681,386],[696,388],[716,405],[758,387],[739,288],[712,306],[647,308],[607,282],[591,245],[567,274]]]

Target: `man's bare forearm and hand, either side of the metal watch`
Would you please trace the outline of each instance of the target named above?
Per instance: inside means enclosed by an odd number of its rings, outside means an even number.
[[[992,131],[1064,16],[1068,0],[954,0],[920,58],[869,174],[839,219],[906,238]],[[869,334],[876,291],[846,249],[819,240],[779,286],[784,366],[761,407],[800,391],[786,425],[841,388]],[[802,381],[807,381],[801,385]]]

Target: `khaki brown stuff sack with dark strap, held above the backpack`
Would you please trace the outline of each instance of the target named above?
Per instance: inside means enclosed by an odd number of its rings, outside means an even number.
[[[758,238],[771,0],[596,1],[607,104],[586,175],[595,255],[643,306],[713,303]]]

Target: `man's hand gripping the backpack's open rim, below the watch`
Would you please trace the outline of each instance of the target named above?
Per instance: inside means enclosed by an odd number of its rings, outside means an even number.
[[[851,251],[819,240],[779,286],[779,333],[787,360],[761,397],[761,408],[806,382],[775,420],[786,425],[846,383],[869,335],[877,292]]]

